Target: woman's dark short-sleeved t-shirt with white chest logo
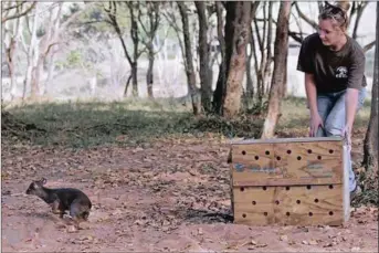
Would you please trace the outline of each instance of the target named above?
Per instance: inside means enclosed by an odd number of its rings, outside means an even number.
[[[367,85],[365,77],[365,52],[347,36],[339,51],[325,46],[318,33],[305,38],[298,55],[297,70],[314,74],[317,92],[331,93],[346,88],[360,89]]]

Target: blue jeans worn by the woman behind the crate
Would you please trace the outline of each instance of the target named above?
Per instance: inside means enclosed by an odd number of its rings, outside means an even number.
[[[366,88],[359,91],[357,110],[362,107],[366,94]],[[341,136],[346,117],[345,97],[346,91],[317,94],[317,108],[324,123],[324,129],[318,128],[316,137]],[[352,171],[350,152],[347,155],[347,164],[349,168],[349,190],[352,191],[356,189],[357,182]]]

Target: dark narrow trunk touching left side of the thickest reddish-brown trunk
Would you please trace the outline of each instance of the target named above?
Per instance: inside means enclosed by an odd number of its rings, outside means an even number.
[[[220,44],[220,51],[221,51],[221,64],[219,67],[219,77],[215,84],[215,91],[213,93],[213,110],[215,114],[221,115],[221,108],[222,108],[222,101],[225,96],[225,82],[227,82],[227,59],[225,59],[225,38],[223,35],[222,29],[223,29],[223,17],[222,17],[223,7],[222,3],[219,1],[215,1],[215,13],[218,19],[218,39]],[[227,17],[228,18],[228,17]],[[231,25],[231,22],[228,23],[228,25]],[[224,27],[224,31],[229,31],[230,29]]]

